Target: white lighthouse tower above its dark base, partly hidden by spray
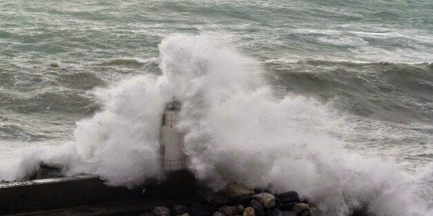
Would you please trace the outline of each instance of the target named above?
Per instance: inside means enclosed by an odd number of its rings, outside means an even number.
[[[165,171],[180,171],[186,168],[183,153],[183,135],[177,130],[181,103],[172,101],[167,104],[161,127],[161,154]]]

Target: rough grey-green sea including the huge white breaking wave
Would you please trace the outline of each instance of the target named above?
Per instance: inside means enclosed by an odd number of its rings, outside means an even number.
[[[189,169],[325,215],[433,215],[432,1],[0,1],[0,180]]]

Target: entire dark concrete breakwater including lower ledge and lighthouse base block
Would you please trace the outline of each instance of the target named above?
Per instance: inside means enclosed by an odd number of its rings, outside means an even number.
[[[158,205],[192,204],[195,195],[188,171],[173,171],[163,182],[150,180],[137,188],[106,186],[97,175],[58,175],[59,170],[41,166],[35,175],[41,179],[1,182],[0,215],[139,215]],[[44,210],[50,212],[34,213]]]

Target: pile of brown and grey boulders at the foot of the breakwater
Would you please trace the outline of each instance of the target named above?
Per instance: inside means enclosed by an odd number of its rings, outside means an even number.
[[[197,193],[199,202],[190,206],[155,206],[141,216],[316,216],[317,208],[298,193],[288,191],[273,194],[268,190],[250,189],[242,184],[231,184],[219,192]]]

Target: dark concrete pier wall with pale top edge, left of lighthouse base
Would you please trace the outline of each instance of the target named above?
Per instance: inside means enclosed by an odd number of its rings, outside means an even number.
[[[0,215],[142,199],[141,188],[108,187],[97,175],[0,184]]]

